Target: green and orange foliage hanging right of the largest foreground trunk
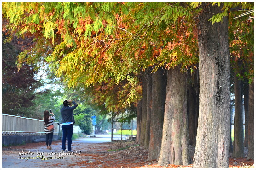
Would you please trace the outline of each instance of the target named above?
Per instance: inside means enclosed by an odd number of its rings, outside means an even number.
[[[242,8],[254,9],[253,3],[241,5]],[[234,72],[241,71],[238,75],[241,79],[248,79],[251,83],[254,78],[254,20],[247,21],[246,19],[254,14],[234,19],[244,12],[230,12],[230,65]]]

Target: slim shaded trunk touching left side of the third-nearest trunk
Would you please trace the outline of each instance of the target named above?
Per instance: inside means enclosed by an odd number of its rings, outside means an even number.
[[[145,132],[145,141],[144,147],[148,149],[149,147],[149,138],[150,138],[150,119],[151,119],[151,108],[152,108],[152,67],[146,72],[147,79],[147,122],[146,122],[146,132]]]

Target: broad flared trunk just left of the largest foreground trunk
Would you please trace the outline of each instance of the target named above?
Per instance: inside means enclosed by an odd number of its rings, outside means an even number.
[[[186,77],[186,73],[180,72],[180,66],[168,71],[159,166],[190,163]]]

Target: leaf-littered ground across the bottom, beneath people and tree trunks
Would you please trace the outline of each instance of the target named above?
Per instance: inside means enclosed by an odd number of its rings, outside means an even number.
[[[147,161],[148,150],[132,142],[81,143],[75,140],[72,141],[73,155],[67,155],[65,152],[60,155],[61,141],[53,141],[51,151],[44,145],[44,142],[39,142],[2,147],[2,168],[192,168],[192,164],[188,166],[169,164],[159,167],[156,160]],[[123,147],[127,148],[110,151]],[[190,146],[190,150],[193,156],[194,147]],[[37,154],[42,152],[44,157],[40,155],[37,157]],[[234,164],[235,161],[237,165]],[[248,167],[247,164],[254,162],[246,161],[246,158],[230,158],[230,167]]]

